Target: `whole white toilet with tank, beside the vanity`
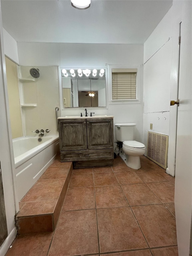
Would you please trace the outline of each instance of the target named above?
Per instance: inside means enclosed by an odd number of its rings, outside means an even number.
[[[116,140],[123,142],[119,156],[128,167],[140,169],[140,155],[144,155],[146,147],[143,143],[133,140],[136,123],[115,124]]]

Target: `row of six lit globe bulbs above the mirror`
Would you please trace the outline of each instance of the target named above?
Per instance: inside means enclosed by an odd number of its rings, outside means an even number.
[[[101,69],[96,69],[96,68],[94,68],[94,69],[88,69],[88,68],[86,68],[86,69],[81,69],[81,68],[73,69],[73,68],[71,68],[70,70],[63,68],[61,70],[61,75],[64,76],[64,77],[68,77],[68,76],[72,76],[72,77],[75,77],[75,76],[79,76],[79,77],[82,77],[82,76],[86,76],[86,77],[100,76],[100,77],[103,77],[103,76],[105,76],[105,70],[104,70],[104,68],[101,68]]]

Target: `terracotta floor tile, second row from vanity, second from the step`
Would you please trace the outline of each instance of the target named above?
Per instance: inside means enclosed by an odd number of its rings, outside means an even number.
[[[94,173],[95,186],[118,185],[115,174],[112,173]]]

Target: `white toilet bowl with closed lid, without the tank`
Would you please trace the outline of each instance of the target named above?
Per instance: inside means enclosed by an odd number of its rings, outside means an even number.
[[[122,152],[120,157],[125,161],[128,167],[133,169],[140,169],[140,155],[145,154],[146,147],[143,143],[135,140],[128,140],[123,142]]]

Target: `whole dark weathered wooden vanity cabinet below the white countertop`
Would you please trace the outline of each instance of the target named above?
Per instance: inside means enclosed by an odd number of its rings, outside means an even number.
[[[74,167],[113,165],[113,118],[58,119],[61,162]]]

